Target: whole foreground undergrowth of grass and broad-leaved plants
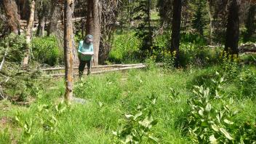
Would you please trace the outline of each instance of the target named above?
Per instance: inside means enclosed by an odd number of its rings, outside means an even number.
[[[89,76],[76,81],[74,89],[75,97],[87,103],[70,108],[60,100],[64,81],[55,81],[38,89],[28,108],[20,111],[13,104],[4,106],[14,107],[12,111],[1,108],[6,115],[0,119],[11,119],[4,127],[12,131],[1,131],[0,141],[12,142],[10,137],[15,137],[20,143],[252,143],[255,93],[238,88],[254,89],[250,76],[255,68],[245,66],[236,75],[222,69],[152,67]]]

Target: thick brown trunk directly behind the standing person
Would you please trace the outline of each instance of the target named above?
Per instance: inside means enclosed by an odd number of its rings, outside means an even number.
[[[99,48],[100,48],[100,21],[101,21],[101,4],[100,0],[87,0],[87,34],[93,36],[94,65],[98,65]]]

